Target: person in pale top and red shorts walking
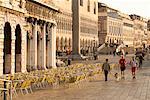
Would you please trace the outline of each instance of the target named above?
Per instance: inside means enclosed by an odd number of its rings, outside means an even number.
[[[134,57],[132,57],[132,60],[130,61],[130,65],[131,65],[132,78],[136,79],[135,72],[137,69],[137,62]]]

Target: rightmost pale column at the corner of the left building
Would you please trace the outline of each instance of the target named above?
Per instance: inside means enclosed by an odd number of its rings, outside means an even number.
[[[56,25],[53,24],[49,28],[47,65],[48,67],[56,68]]]

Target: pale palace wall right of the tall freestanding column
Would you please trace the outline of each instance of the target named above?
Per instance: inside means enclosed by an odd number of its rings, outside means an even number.
[[[80,47],[82,50],[88,50],[89,52],[93,52],[93,47],[98,46],[97,2],[97,0],[83,0],[83,4],[80,4]]]

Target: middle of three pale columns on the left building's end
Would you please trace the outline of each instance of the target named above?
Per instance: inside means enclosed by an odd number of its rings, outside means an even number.
[[[46,69],[46,24],[44,23],[44,26],[43,26],[43,30],[42,30],[42,35],[43,35],[43,38],[42,38],[42,67],[43,69]]]

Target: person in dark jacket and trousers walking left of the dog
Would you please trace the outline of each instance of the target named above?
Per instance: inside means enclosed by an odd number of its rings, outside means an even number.
[[[105,81],[107,81],[108,73],[110,72],[110,64],[108,63],[108,59],[106,59],[106,61],[102,65],[102,72],[104,72]]]

